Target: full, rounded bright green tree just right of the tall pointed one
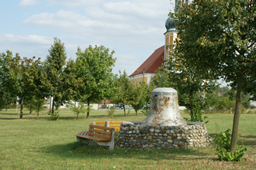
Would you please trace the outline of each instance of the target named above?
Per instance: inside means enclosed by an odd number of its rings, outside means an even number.
[[[112,66],[116,62],[112,51],[104,46],[88,46],[85,51],[78,47],[75,61],[78,77],[83,79],[84,86],[79,87],[81,97],[86,97],[88,107],[92,102],[99,102],[108,96],[111,85]],[[87,118],[89,117],[89,110]]]

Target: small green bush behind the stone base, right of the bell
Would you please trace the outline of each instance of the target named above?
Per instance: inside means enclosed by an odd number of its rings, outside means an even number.
[[[199,121],[199,122],[204,122],[205,124],[207,124],[209,121],[206,121],[206,118],[208,117],[202,117],[202,110],[199,104],[195,104],[195,106],[193,107],[193,114],[189,114],[190,115],[190,119],[189,117],[184,117],[185,121]]]

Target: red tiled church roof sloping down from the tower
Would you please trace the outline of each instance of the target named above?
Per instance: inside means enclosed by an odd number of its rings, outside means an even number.
[[[164,46],[156,49],[130,76],[140,73],[154,73],[162,63],[164,63]]]

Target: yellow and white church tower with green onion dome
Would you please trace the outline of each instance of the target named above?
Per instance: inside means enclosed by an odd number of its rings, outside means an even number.
[[[164,59],[169,58],[169,52],[172,46],[175,44],[175,39],[177,38],[178,31],[175,30],[175,19],[169,17],[165,22],[166,32],[164,33],[165,43],[164,43]]]

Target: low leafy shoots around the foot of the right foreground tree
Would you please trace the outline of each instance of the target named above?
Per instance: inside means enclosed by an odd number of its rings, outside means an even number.
[[[244,161],[243,156],[248,148],[244,148],[243,145],[237,145],[236,150],[233,152],[230,151],[230,129],[227,131],[220,132],[214,137],[214,141],[216,143],[216,155],[220,158],[221,161],[235,161],[240,162]]]

